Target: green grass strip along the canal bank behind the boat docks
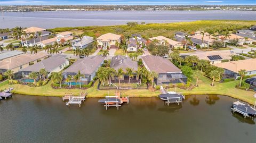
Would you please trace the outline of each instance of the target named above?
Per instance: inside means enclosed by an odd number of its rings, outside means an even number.
[[[230,97],[238,98],[254,104],[255,98],[253,91],[245,91],[235,88],[235,85],[239,81],[230,81],[225,83],[215,82],[215,86],[211,86],[211,79],[201,76],[198,80],[198,87],[188,91],[184,89],[177,88],[178,92],[182,92],[184,95],[205,95],[205,94],[218,94],[218,95],[227,95]],[[195,79],[191,82],[195,85]],[[51,87],[51,81],[42,87],[29,87],[26,85],[13,85],[14,93],[25,94],[25,95],[40,95],[40,96],[62,96],[65,92],[73,92],[74,95],[79,95],[81,91],[86,91],[88,97],[104,97],[108,94],[114,95],[115,90],[97,90],[98,81],[95,82],[94,86],[86,89],[53,89]],[[0,85],[0,90],[8,88],[9,85],[7,82]],[[174,91],[174,88],[169,89],[169,91]],[[159,95],[159,91],[149,91],[147,89],[133,89],[133,90],[122,90],[122,95],[130,97],[156,97]]]

